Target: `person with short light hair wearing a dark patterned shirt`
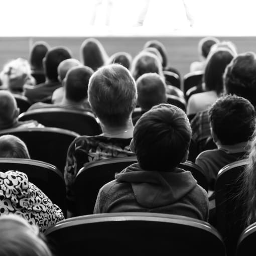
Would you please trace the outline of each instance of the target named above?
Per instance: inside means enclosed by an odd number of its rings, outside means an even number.
[[[129,70],[119,64],[99,68],[89,80],[88,100],[103,133],[78,137],[69,146],[64,179],[71,202],[74,200],[75,176],[87,162],[134,155],[130,151],[130,142],[137,89]]]

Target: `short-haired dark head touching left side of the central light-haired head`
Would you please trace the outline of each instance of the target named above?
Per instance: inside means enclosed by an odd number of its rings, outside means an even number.
[[[87,99],[89,79],[93,70],[86,66],[71,68],[65,78],[65,97],[74,102]]]

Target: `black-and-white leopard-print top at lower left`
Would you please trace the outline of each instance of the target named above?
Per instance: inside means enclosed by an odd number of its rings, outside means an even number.
[[[0,172],[0,215],[21,215],[44,232],[64,219],[61,209],[19,171]]]

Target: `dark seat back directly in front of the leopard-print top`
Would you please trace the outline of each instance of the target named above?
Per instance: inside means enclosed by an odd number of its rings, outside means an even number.
[[[0,158],[0,170],[14,170],[27,174],[29,181],[40,188],[66,215],[65,182],[63,175],[55,166],[31,159]]]

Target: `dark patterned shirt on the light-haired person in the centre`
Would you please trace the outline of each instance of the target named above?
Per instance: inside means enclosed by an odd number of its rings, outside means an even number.
[[[64,170],[67,198],[74,200],[72,186],[78,171],[88,162],[129,157],[135,154],[130,150],[132,138],[120,139],[104,136],[81,136],[76,138],[69,146],[67,161]]]

